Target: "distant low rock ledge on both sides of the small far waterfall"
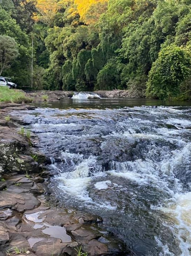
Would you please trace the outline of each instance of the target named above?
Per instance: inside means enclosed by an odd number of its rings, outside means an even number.
[[[101,98],[130,98],[127,90],[95,91]],[[26,96],[33,102],[60,101],[63,98],[71,98],[73,91],[29,91]]]

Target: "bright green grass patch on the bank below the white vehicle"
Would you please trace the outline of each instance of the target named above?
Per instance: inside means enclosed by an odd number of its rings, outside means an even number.
[[[6,86],[0,86],[0,102],[30,103],[32,99],[26,97],[21,91],[9,89]]]

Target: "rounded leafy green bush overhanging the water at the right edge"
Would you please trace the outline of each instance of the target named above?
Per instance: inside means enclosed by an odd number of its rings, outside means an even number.
[[[166,99],[177,96],[180,84],[190,75],[191,56],[186,50],[170,45],[159,52],[147,82],[147,97]]]

